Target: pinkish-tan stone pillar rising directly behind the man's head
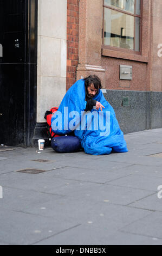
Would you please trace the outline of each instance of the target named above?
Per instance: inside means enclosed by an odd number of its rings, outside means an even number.
[[[103,1],[80,0],[79,13],[77,80],[95,74],[104,87],[105,68],[101,66]]]

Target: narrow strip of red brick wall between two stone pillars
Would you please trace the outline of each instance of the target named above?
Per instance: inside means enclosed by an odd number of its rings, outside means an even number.
[[[67,90],[76,82],[79,47],[79,0],[67,0]]]

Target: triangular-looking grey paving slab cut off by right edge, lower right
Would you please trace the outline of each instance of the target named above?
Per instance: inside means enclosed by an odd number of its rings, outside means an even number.
[[[159,192],[159,190],[158,190]],[[152,196],[141,199],[133,204],[129,204],[130,207],[148,209],[152,211],[161,211],[162,212],[162,199],[158,198],[158,192]],[[162,193],[161,193],[162,194]]]

